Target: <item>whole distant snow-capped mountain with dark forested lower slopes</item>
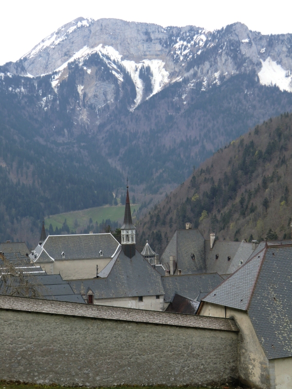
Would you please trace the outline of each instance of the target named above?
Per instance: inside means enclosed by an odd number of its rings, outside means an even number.
[[[77,18],[0,67],[0,239],[124,195],[161,200],[222,145],[291,111],[292,35]],[[147,203],[149,203],[147,200]]]

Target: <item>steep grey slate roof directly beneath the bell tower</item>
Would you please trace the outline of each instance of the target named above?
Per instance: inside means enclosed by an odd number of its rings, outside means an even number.
[[[98,278],[70,281],[73,290],[84,294],[90,288],[95,299],[164,294],[161,275],[137,250],[130,259],[120,249],[118,256],[106,267]]]

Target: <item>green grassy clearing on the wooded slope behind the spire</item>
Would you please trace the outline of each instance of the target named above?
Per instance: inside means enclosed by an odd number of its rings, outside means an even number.
[[[132,205],[131,210],[133,216],[135,216],[136,211],[138,211],[140,204]],[[135,210],[135,212],[134,212]],[[93,224],[97,221],[97,223],[101,223],[103,220],[110,219],[112,221],[118,221],[119,223],[123,223],[125,214],[125,206],[124,205],[116,205],[116,206],[104,206],[104,207],[95,207],[89,208],[87,210],[82,211],[72,211],[59,213],[56,215],[51,215],[45,218],[45,225],[48,229],[50,224],[52,223],[53,229],[56,227],[61,228],[65,219],[70,230],[76,230],[74,223],[75,220],[78,222],[78,229],[85,229],[89,224],[89,219],[91,218]]]

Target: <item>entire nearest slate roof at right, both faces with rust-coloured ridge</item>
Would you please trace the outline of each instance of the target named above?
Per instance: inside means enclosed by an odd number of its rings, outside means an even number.
[[[290,242],[265,242],[265,248],[202,299],[247,311],[268,359],[292,356],[291,261]]]

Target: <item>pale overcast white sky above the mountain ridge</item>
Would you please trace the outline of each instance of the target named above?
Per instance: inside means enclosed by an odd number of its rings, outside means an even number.
[[[262,34],[292,33],[290,0],[10,0],[1,3],[0,65],[16,61],[71,20],[119,18],[215,30],[240,21]]]

